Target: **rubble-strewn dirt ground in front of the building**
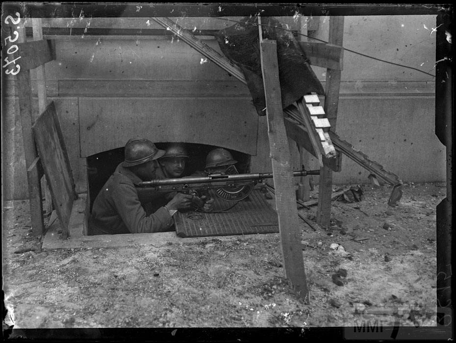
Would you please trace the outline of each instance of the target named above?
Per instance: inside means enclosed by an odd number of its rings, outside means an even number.
[[[317,206],[299,210],[317,229],[300,220],[309,305],[284,278],[279,234],[182,239],[159,253],[144,245],[42,251],[28,202],[5,202],[3,290],[12,316],[3,326],[305,328],[372,316],[435,326],[435,208],[445,184],[406,184],[395,207],[387,205],[391,187],[361,188],[359,202],[332,202],[328,230],[315,224]]]

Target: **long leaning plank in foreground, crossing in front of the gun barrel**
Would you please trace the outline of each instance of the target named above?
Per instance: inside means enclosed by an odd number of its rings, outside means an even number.
[[[288,139],[283,123],[279,83],[279,63],[275,41],[260,43],[261,70],[263,73],[268,119],[269,147],[271,151],[276,205],[279,216],[280,243],[286,277],[298,297],[309,303],[309,289],[305,278],[301,233],[296,208],[293,171],[290,162]]]

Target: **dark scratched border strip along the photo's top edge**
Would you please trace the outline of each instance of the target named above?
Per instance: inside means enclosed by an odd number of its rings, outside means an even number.
[[[45,3],[5,2],[2,12],[19,12],[21,18],[97,18],[97,17],[229,17],[255,16],[367,16],[437,15],[446,5],[423,4],[275,4],[275,3]],[[3,22],[3,21],[2,21]]]

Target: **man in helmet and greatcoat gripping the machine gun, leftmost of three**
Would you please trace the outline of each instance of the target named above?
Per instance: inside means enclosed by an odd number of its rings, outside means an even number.
[[[130,139],[125,146],[125,161],[104,184],[96,197],[90,217],[92,235],[169,231],[177,210],[191,208],[192,197],[175,194],[164,206],[147,213],[135,185],[156,178],[156,160],[165,154],[144,138]],[[153,204],[152,204],[153,205]]]

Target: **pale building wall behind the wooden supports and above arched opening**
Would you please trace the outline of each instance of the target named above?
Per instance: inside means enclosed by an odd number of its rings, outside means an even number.
[[[305,18],[281,21],[286,21],[292,29],[309,28],[314,37],[328,39],[327,17],[314,17],[312,21]],[[44,25],[55,25],[50,22],[44,21]],[[62,20],[60,25],[65,23]],[[191,18],[179,24],[186,28],[199,25],[202,29],[233,24],[221,23],[214,18]],[[87,23],[78,20],[72,25],[84,27]],[[97,25],[106,27],[107,24],[93,19],[90,27]],[[113,27],[119,25],[154,27],[146,25],[145,19],[122,19]],[[433,73],[435,33],[431,34],[424,26],[435,27],[435,16],[346,17],[344,47]],[[119,120],[125,118],[127,104],[131,107],[140,103],[136,105],[136,112],[141,113],[155,108],[158,100],[162,102],[160,108],[165,112],[168,109],[168,115],[173,115],[174,111],[174,116],[181,119],[178,123],[185,123],[179,131],[180,134],[191,132],[185,140],[205,137],[202,139],[245,151],[253,155],[252,172],[271,171],[266,118],[256,117],[247,87],[214,63],[202,62],[201,54],[176,38],[139,38],[60,37],[56,40],[57,60],[46,65],[48,96],[56,103],[77,191],[86,191],[85,157],[88,154],[121,147],[130,133],[144,131],[144,125],[135,121],[132,125],[131,118]],[[218,49],[210,37],[202,38]],[[314,71],[325,83],[326,70],[315,67]],[[26,175],[18,104],[12,84],[7,86],[2,108],[3,197],[25,198]],[[346,51],[336,132],[404,181],[443,181],[445,150],[434,135],[434,89],[432,76]],[[100,119],[104,108],[100,104],[103,103],[109,106],[111,117],[105,115],[104,120],[96,123],[101,125],[97,127],[98,131],[88,134],[90,129],[87,128],[92,128],[91,110],[98,111],[98,116],[94,112],[93,119]],[[178,103],[193,105],[180,106]],[[208,136],[207,130],[201,132],[198,125],[192,127],[191,120],[182,122],[187,118],[184,112],[203,113],[204,121],[213,120],[211,114],[216,114],[216,118],[226,122],[214,121],[217,129]],[[241,117],[248,118],[246,123],[240,121]],[[115,134],[105,137],[103,144],[97,147],[97,141],[91,139],[106,132],[104,127],[112,130],[113,123]],[[217,132],[225,127],[224,123],[230,123],[225,125],[227,132],[243,133],[233,139],[218,135]],[[153,127],[148,126],[149,129]],[[164,134],[159,141],[166,141]],[[207,144],[206,141],[200,143]],[[293,143],[290,147],[298,168],[297,149]],[[310,159],[309,167],[317,167],[315,159]],[[342,172],[334,173],[334,182],[363,183],[367,182],[368,174],[344,156]]]

